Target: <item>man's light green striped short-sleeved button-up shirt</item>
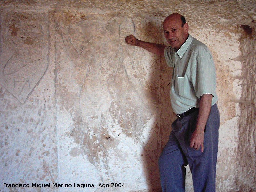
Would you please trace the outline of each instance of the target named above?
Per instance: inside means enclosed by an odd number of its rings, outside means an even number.
[[[204,94],[213,95],[212,105],[217,102],[215,65],[205,44],[189,35],[177,52],[166,47],[164,56],[167,65],[173,67],[170,96],[176,114],[199,108],[199,98]]]

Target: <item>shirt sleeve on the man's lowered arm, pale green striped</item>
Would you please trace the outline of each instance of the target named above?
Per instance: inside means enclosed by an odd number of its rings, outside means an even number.
[[[216,96],[216,72],[212,58],[198,57],[192,70],[192,84],[198,99],[204,94]]]

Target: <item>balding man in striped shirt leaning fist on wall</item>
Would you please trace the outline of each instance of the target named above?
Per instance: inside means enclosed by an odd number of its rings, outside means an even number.
[[[161,187],[164,192],[185,191],[184,165],[189,164],[195,192],[215,191],[220,115],[212,54],[189,35],[182,15],[169,15],[163,29],[170,47],[133,35],[125,39],[130,45],[164,56],[167,65],[173,67],[170,95],[178,118],[159,157]]]

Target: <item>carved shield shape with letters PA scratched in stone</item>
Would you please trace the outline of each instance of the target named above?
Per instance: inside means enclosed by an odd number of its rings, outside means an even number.
[[[0,84],[24,103],[48,66],[48,24],[40,13],[2,17]]]

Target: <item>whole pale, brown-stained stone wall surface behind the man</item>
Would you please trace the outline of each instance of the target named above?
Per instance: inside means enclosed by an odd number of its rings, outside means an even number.
[[[1,1],[0,191],[160,191],[172,69],[124,38],[165,44],[161,22],[172,12],[185,15],[216,64],[216,190],[256,191],[254,4]],[[30,188],[3,186],[19,182]],[[125,187],[98,187],[112,182]]]

